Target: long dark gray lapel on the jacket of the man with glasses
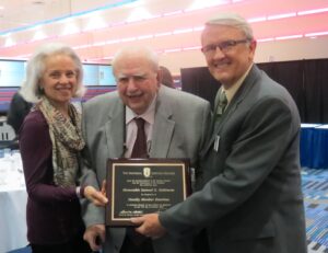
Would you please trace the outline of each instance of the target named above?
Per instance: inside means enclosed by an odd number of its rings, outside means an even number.
[[[256,79],[259,74],[259,69],[257,68],[256,65],[254,65],[248,73],[248,76],[246,77],[246,79],[244,80],[243,84],[241,85],[241,88],[238,89],[238,91],[236,92],[236,94],[234,95],[234,97],[232,99],[231,103],[229,104],[226,111],[224,112],[224,114],[221,117],[221,120],[219,124],[213,124],[213,133],[212,136],[208,142],[208,145],[206,146],[204,150],[203,150],[203,154],[212,147],[215,137],[220,136],[221,129],[222,127],[229,122],[230,117],[235,113],[235,111],[237,110],[238,105],[244,101],[244,99],[246,97],[246,95],[249,93],[249,91],[253,89],[253,87],[256,83]],[[220,88],[221,89],[221,88]]]

